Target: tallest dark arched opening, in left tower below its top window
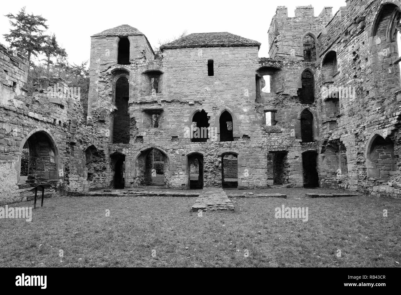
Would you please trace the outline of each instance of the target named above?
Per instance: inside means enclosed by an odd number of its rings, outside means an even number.
[[[130,115],[128,113],[130,85],[127,77],[120,77],[115,85],[113,114],[113,143],[130,143]]]

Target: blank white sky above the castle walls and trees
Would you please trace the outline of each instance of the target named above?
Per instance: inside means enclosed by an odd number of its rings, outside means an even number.
[[[2,35],[10,29],[4,14],[16,14],[26,6],[26,12],[47,18],[48,33],[56,34],[59,44],[67,50],[70,63],[79,64],[89,59],[91,35],[120,24],[138,28],[148,37],[152,47],[158,45],[159,40],[172,39],[184,30],[188,33],[227,31],[261,42],[259,57],[267,57],[267,30],[276,7],[287,6],[288,15],[294,16],[296,6],[308,4],[314,6],[315,16],[324,6],[333,6],[333,14],[340,6],[346,6],[341,0],[71,0],[60,4],[54,0],[3,1],[0,6],[0,43],[8,45]]]

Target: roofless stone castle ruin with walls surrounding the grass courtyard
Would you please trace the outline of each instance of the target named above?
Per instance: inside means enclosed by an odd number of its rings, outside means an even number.
[[[278,185],[399,197],[400,7],[348,0],[334,15],[299,6],[288,17],[279,6],[269,58],[221,32],[155,59],[123,24],[91,36],[87,102],[62,79],[28,95],[26,59],[0,46],[0,203],[41,183],[55,194]]]

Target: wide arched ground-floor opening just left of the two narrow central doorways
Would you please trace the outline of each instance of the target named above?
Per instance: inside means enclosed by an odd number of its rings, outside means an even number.
[[[153,148],[142,152],[144,161],[144,185],[163,187],[168,176],[168,159],[160,150]]]

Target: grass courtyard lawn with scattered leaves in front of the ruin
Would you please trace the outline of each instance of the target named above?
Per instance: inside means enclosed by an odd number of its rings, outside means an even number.
[[[0,219],[0,267],[400,267],[397,199],[237,198],[234,212],[202,217],[189,212],[194,201],[45,199],[32,222]],[[275,219],[282,204],[308,207],[308,221]]]

